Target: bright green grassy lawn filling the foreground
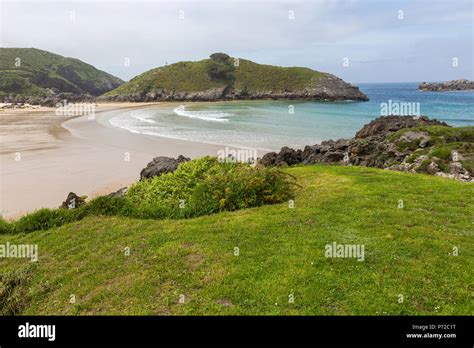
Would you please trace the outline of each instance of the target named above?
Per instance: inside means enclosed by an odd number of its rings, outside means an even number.
[[[293,209],[283,203],[187,220],[88,217],[0,235],[0,244],[39,247],[37,263],[0,259],[0,310],[472,314],[472,184],[350,166],[285,171],[301,185]],[[333,242],[363,244],[365,260],[326,258]]]

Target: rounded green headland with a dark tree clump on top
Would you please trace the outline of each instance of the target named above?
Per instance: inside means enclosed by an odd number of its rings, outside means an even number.
[[[327,73],[262,65],[215,53],[210,59],[149,70],[106,94],[113,100],[313,99],[368,100]]]

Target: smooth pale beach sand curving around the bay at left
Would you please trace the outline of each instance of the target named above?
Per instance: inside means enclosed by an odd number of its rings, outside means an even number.
[[[57,208],[69,192],[89,198],[129,186],[153,157],[216,155],[222,146],[134,134],[108,120],[159,103],[100,104],[95,116],[54,109],[0,112],[0,213],[13,219]],[[164,104],[164,103],[161,103]]]

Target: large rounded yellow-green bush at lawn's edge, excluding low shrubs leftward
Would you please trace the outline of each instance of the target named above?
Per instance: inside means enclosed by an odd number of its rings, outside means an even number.
[[[134,184],[126,199],[137,207],[136,217],[193,217],[283,202],[293,197],[294,185],[276,168],[204,157]]]

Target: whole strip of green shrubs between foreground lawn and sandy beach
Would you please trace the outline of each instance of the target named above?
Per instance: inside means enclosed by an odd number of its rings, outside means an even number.
[[[293,198],[293,179],[276,168],[203,157],[135,183],[124,198],[102,196],[77,209],[40,209],[13,223],[0,219],[0,233],[47,230],[86,216],[189,218],[274,204]]]

